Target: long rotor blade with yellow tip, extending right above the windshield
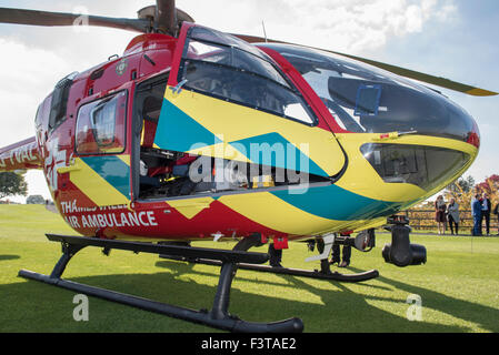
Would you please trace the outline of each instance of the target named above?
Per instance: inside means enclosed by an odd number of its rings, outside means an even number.
[[[345,54],[345,53],[340,53],[340,52],[335,52],[335,51],[330,51],[330,50],[325,50],[325,49],[320,49],[320,48],[315,48],[315,47],[309,47],[309,45],[301,45],[301,44],[296,44],[296,43],[289,43],[289,42],[283,42],[283,41],[276,41],[276,40],[270,40],[270,39],[265,39],[261,37],[255,37],[255,36],[246,36],[246,34],[233,34],[247,42],[250,43],[256,43],[256,42],[270,42],[270,43],[283,43],[283,44],[293,44],[293,45],[300,45],[300,47],[307,47],[310,49],[316,49],[316,50],[320,50],[320,51],[325,51],[325,52],[330,52],[333,54],[339,54],[342,57],[347,57],[350,59],[355,59],[358,60],[360,62],[377,67],[377,68],[381,68],[385,69],[387,71],[390,71],[395,74],[401,75],[401,77],[406,77],[406,78],[410,78],[410,79],[415,79],[418,81],[422,81],[429,84],[433,84],[437,87],[441,87],[441,88],[446,88],[446,89],[450,89],[453,91],[459,91],[462,93],[467,93],[469,95],[473,95],[473,97],[492,97],[492,95],[497,95],[497,92],[493,91],[488,91],[485,89],[480,89],[480,88],[475,88],[471,85],[467,85],[460,82],[456,82],[449,79],[445,79],[445,78],[440,78],[440,77],[435,77],[435,75],[430,75],[430,74],[425,74],[421,73],[419,71],[413,71],[410,69],[406,69],[406,68],[401,68],[401,67],[397,67],[397,65],[391,65],[391,64],[387,64],[387,63],[382,63],[382,62],[378,62],[375,60],[370,60],[370,59],[366,59],[366,58],[361,58],[361,57],[356,57],[356,55],[350,55],[350,54]]]

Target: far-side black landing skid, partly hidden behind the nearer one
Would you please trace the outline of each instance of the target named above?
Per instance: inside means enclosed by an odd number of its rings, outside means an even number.
[[[213,265],[213,266],[220,266],[221,263],[214,260],[207,260],[207,258],[188,258],[188,257],[176,257],[172,255],[160,255],[162,258],[169,258],[169,260],[176,260],[176,261],[182,261],[193,264],[203,264],[203,265]],[[367,271],[363,273],[357,273],[357,274],[340,274],[338,272],[323,272],[323,271],[308,271],[308,270],[301,270],[301,268],[288,268],[288,267],[273,267],[269,265],[256,265],[256,264],[247,264],[247,263],[239,263],[238,268],[241,270],[251,270],[251,271],[258,271],[263,273],[272,273],[272,274],[281,274],[281,275],[292,275],[292,276],[302,276],[302,277],[311,277],[311,278],[319,278],[319,280],[330,280],[330,281],[338,281],[338,282],[362,282],[372,280],[379,276],[379,272],[377,270]]]

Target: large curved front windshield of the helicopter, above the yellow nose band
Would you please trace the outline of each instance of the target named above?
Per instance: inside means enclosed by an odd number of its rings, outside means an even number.
[[[343,129],[412,132],[469,141],[475,121],[442,94],[385,70],[332,53],[265,43],[305,78]]]

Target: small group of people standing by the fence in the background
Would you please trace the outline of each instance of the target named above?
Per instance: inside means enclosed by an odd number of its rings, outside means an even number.
[[[471,235],[490,235],[490,214],[499,214],[498,205],[492,210],[492,204],[487,193],[476,194],[471,201],[471,213],[473,217],[473,227]],[[450,234],[459,234],[459,204],[455,199],[450,199],[449,204],[443,201],[443,196],[439,195],[435,201],[435,221],[438,225],[438,234],[446,234],[447,224],[449,224]],[[485,222],[485,231],[483,231]],[[498,227],[499,229],[499,227]],[[485,233],[483,233],[485,232]],[[499,235],[499,230],[498,230]]]

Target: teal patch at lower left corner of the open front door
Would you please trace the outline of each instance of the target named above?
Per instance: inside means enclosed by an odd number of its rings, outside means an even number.
[[[154,144],[160,149],[188,152],[196,148],[209,146],[221,141],[190,115],[163,99]]]

